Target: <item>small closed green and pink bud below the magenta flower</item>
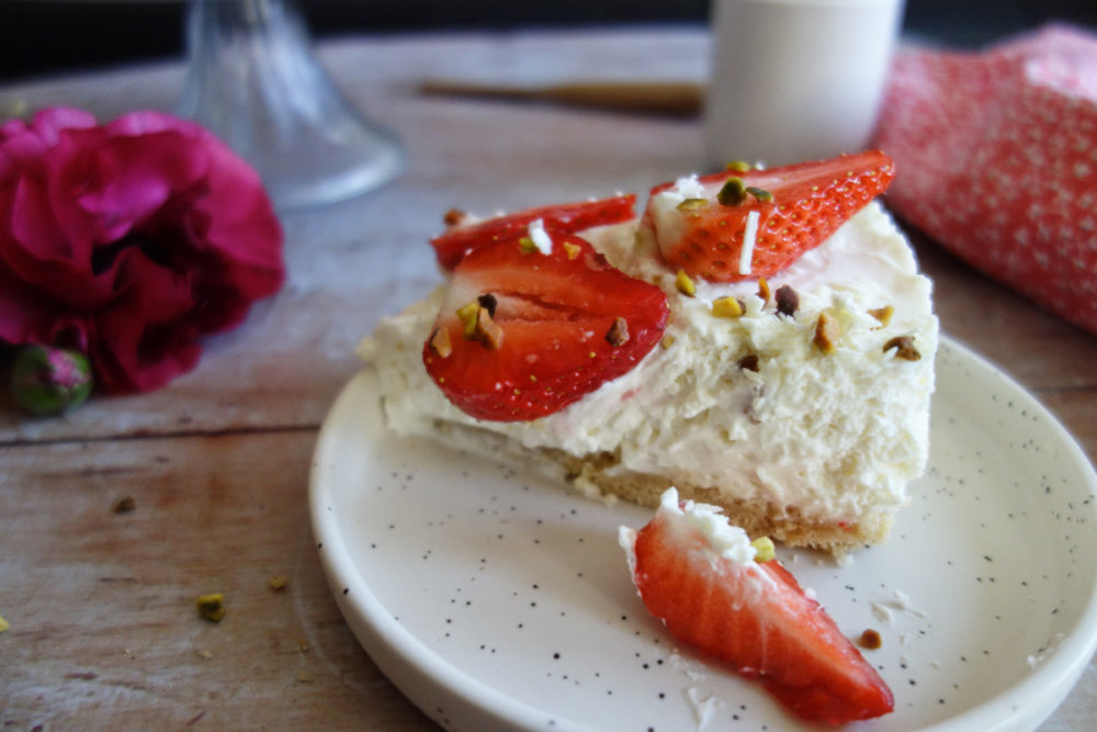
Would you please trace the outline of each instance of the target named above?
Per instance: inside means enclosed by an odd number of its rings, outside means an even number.
[[[91,367],[79,351],[26,346],[11,372],[15,402],[36,415],[59,414],[82,404],[91,393]]]

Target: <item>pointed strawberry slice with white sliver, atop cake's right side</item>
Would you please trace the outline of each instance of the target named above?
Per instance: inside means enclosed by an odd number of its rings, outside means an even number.
[[[690,277],[769,278],[822,244],[893,177],[891,159],[875,150],[769,170],[728,170],[656,185],[644,224],[654,229],[670,267]]]

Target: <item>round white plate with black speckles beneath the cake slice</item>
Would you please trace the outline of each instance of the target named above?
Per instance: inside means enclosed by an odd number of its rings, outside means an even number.
[[[946,340],[932,454],[883,547],[779,555],[895,694],[872,730],[1031,729],[1097,646],[1097,477],[1000,371]],[[372,375],[336,402],[312,514],[336,599],[371,657],[459,730],[779,730],[757,685],[678,647],[644,610],[606,506],[385,432]]]

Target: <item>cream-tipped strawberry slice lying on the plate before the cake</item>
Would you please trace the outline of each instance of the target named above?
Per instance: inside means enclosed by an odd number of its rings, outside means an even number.
[[[776,560],[750,559],[720,509],[668,489],[640,531],[622,527],[633,581],[670,634],[758,677],[803,719],[842,724],[894,708],[887,685]],[[744,551],[747,553],[744,555]]]

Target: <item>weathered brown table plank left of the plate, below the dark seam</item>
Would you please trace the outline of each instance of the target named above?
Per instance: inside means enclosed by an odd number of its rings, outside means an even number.
[[[305,509],[314,441],[289,430],[4,449],[4,724],[427,725],[325,583]],[[115,513],[122,496],[134,510]],[[195,609],[208,593],[225,597],[218,623]]]

